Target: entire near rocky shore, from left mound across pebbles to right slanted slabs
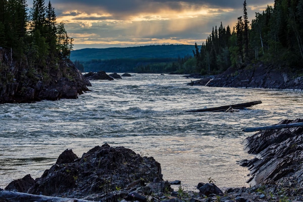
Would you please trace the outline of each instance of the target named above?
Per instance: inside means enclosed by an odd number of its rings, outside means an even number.
[[[278,124],[302,121],[284,120]],[[8,194],[16,192],[19,197],[26,193],[31,197],[40,194],[108,202],[303,200],[303,127],[261,131],[247,137],[244,144],[246,151],[256,154],[252,160],[238,162],[251,171],[249,183],[253,186],[250,187],[220,190],[210,178],[208,182],[199,183],[196,192],[187,191],[181,184],[178,190],[173,190],[171,184],[180,181],[164,181],[161,165],[153,157],[104,144],[82,157],[77,157],[72,150],[65,150],[40,178],[26,175],[0,190],[0,201],[22,201],[18,197],[7,199]]]

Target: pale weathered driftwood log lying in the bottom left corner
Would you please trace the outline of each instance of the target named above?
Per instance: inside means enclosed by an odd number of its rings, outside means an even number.
[[[75,198],[60,198],[60,197],[49,197],[43,195],[26,194],[15,191],[0,190],[0,201],[4,202],[89,202],[89,200],[75,199]]]

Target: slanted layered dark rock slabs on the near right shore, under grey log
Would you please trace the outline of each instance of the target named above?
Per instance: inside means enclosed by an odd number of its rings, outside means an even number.
[[[303,122],[284,120],[278,124]],[[260,131],[244,140],[245,149],[258,156],[242,164],[249,166],[256,184],[303,186],[303,127]]]

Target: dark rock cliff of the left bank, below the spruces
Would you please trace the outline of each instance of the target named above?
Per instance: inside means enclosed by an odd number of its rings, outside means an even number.
[[[89,91],[90,82],[69,59],[45,67],[28,67],[8,59],[10,54],[0,48],[0,104],[76,99]]]

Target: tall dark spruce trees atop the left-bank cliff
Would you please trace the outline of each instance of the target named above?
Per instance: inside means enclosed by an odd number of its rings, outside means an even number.
[[[56,21],[50,1],[46,5],[34,0],[28,10],[26,0],[0,0],[0,47],[12,53],[15,69],[47,76],[49,68],[58,68],[59,60],[69,58],[72,41],[63,22]],[[9,82],[7,75],[14,77],[3,63],[0,74],[2,83]]]

